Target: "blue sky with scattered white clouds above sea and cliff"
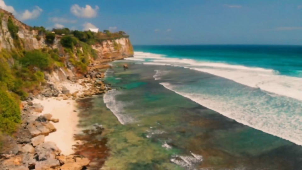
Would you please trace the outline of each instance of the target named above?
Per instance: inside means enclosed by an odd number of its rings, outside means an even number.
[[[132,44],[302,45],[302,0],[0,0],[27,25],[123,30]]]

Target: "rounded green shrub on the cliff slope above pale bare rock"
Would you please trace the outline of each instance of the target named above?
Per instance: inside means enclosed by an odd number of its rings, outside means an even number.
[[[24,67],[36,66],[41,70],[49,70],[53,61],[48,53],[43,53],[40,50],[33,50],[25,52],[24,57],[20,59],[20,63]]]

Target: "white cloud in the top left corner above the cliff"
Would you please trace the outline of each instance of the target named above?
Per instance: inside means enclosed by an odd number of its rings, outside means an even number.
[[[16,16],[16,18],[18,18],[19,20],[23,20],[23,21],[36,19],[40,16],[40,14],[43,11],[40,7],[35,6],[35,9],[33,9],[32,11],[26,9],[24,12],[18,13],[17,11],[15,11],[14,7],[7,6],[3,0],[0,0],[0,8],[6,10],[8,12],[11,12],[12,14],[14,14]]]

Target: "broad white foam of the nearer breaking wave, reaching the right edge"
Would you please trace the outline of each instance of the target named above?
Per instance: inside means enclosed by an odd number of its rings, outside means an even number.
[[[239,123],[302,145],[302,116],[301,110],[296,109],[302,108],[302,104],[297,101],[288,101],[285,105],[281,99],[271,101],[267,100],[265,96],[259,96],[258,100],[255,100],[248,94],[231,98],[223,94],[185,93],[176,90],[177,86],[169,83],[160,84]],[[267,101],[273,103],[267,104]],[[239,105],[239,103],[243,105]]]

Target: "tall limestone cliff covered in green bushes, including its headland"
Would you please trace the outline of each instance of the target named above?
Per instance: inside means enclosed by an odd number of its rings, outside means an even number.
[[[67,79],[102,78],[99,69],[109,67],[104,63],[133,56],[123,31],[53,33],[28,26],[3,9],[0,28],[0,135],[13,133],[21,122],[20,99],[46,93],[49,84]]]

